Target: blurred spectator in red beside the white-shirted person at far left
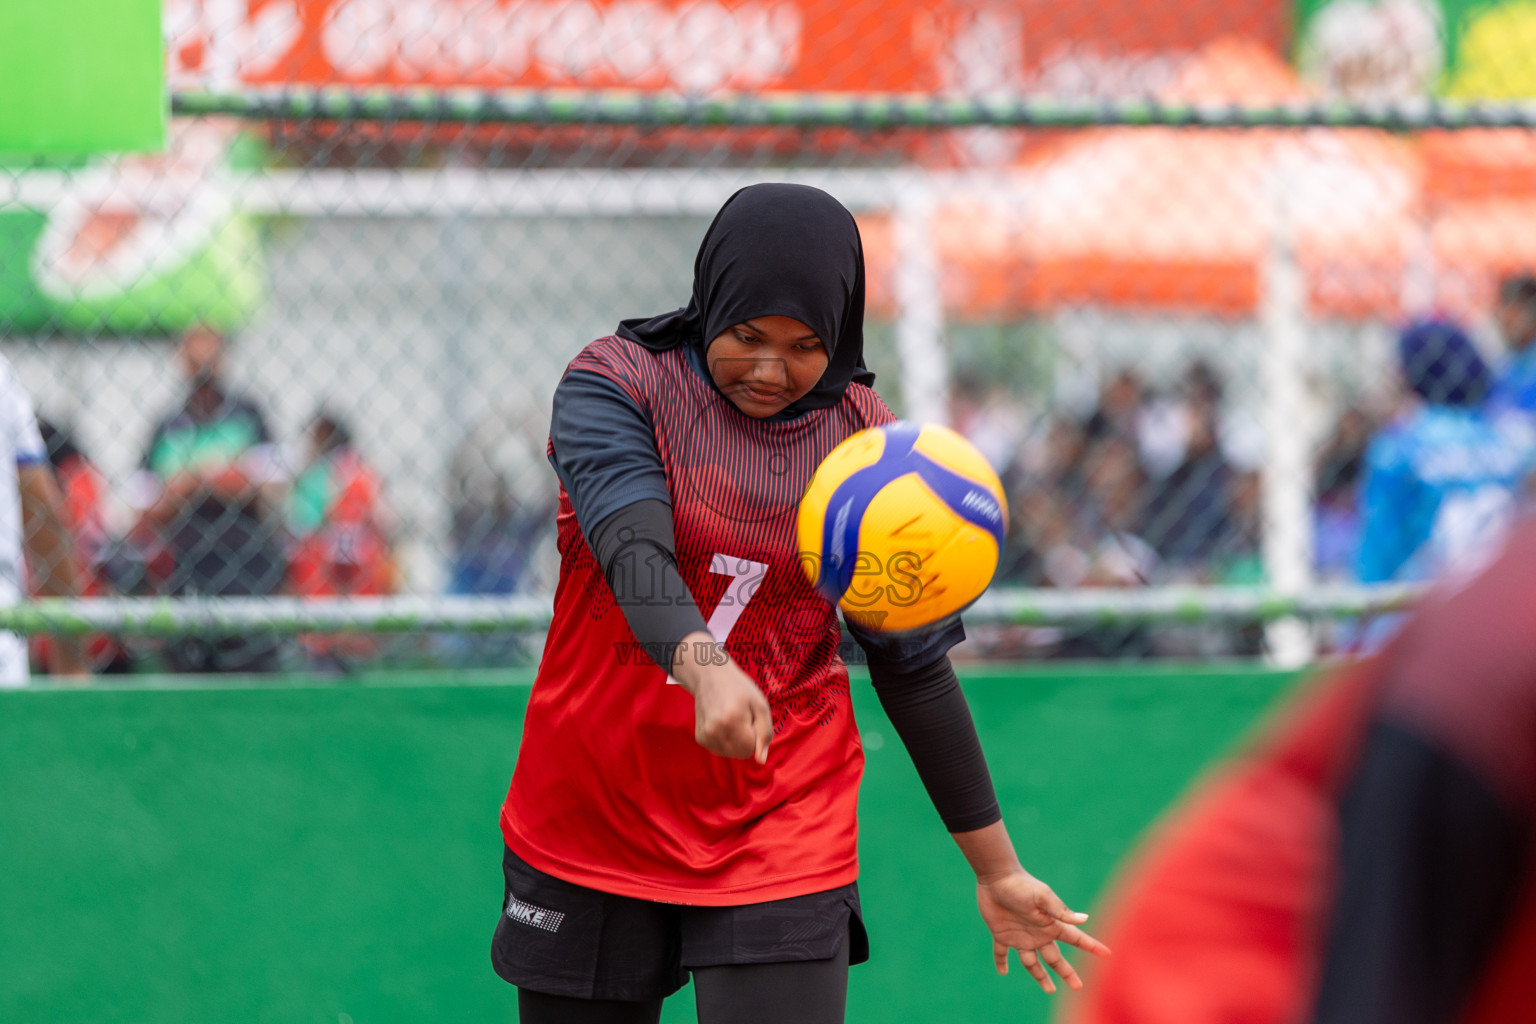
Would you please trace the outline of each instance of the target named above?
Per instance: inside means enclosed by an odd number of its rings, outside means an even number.
[[[106,477],[75,444],[74,431],[55,427],[41,416],[37,418],[37,428],[63,499],[63,525],[75,548],[80,596],[104,597],[111,593],[104,571],[111,545],[106,525],[111,494]],[[34,597],[40,596],[35,576],[29,579],[28,590]],[[52,660],[54,637],[35,636],[31,648],[32,662],[48,665]],[[89,663],[97,671],[129,671],[127,652],[112,637],[92,636],[84,642],[84,648]]]

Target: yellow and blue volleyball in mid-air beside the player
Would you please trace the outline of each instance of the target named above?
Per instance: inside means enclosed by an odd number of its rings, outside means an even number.
[[[800,499],[800,563],[863,628],[912,633],[969,606],[997,571],[1003,484],[937,424],[862,430],[822,461]]]

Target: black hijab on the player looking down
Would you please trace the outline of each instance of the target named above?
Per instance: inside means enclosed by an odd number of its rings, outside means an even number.
[[[874,384],[863,364],[863,243],[842,203],[803,184],[753,184],[714,215],[693,261],[693,298],[680,310],[627,319],[619,336],[665,352],[700,353],[728,327],[793,316],[826,345],[826,372],[774,419],[842,401],[851,382]]]

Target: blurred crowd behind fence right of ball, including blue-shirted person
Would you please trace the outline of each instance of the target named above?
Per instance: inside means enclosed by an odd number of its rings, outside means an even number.
[[[1536,457],[1536,278],[1504,281],[1499,352],[1448,318],[1401,329],[1395,379],[1335,418],[1312,461],[1313,571],[1324,583],[1471,570],[1519,513]],[[1261,585],[1263,447],[1253,411],[1195,361],[1169,390],[1112,373],[1084,418],[1031,421],[983,381],[952,419],[1009,494],[1003,586]],[[986,629],[992,656],[1260,654],[1253,626]],[[1332,646],[1358,642],[1352,623]]]

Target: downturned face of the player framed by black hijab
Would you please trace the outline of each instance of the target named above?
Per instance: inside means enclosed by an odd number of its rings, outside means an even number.
[[[762,419],[803,398],[826,372],[826,347],[790,316],[757,316],[710,342],[710,376],[748,416]]]

